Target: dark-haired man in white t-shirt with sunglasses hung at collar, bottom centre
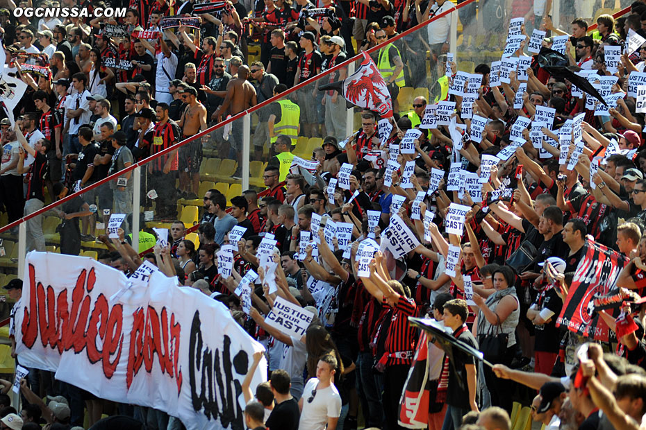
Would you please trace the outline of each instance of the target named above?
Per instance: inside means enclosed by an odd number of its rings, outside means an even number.
[[[338,363],[327,354],[316,366],[316,377],[307,381],[299,400],[299,430],[335,430],[341,413],[341,396],[334,386]]]

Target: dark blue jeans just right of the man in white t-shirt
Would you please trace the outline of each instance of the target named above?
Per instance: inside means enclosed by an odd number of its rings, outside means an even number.
[[[381,389],[372,372],[374,361],[370,352],[359,352],[356,360],[356,391],[365,415],[365,427],[383,426]]]

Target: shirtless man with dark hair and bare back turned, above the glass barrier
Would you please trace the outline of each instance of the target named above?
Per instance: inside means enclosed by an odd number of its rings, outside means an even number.
[[[247,80],[249,74],[251,74],[249,66],[243,65],[238,69],[238,77],[229,80],[229,84],[226,85],[226,97],[213,114],[217,121],[222,122],[222,117],[227,111],[233,117],[258,103],[256,89]],[[242,135],[242,119],[239,119],[231,125],[231,137],[229,138],[231,144],[229,158],[238,159],[238,169],[233,173],[235,177],[240,177],[242,174]]]

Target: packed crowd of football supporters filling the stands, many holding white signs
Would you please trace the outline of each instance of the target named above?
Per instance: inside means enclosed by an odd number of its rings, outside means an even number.
[[[101,263],[127,275],[147,260],[179,286],[204,291],[204,300],[224,302],[266,347],[267,382],[251,387],[249,377],[242,384],[247,427],[403,427],[422,349],[429,429],[520,428],[518,399],[531,403],[531,418],[549,430],[640,427],[646,94],[633,79],[640,82],[646,65],[646,3],[625,5],[629,12],[616,20],[593,20],[593,10],[578,5],[567,28],[552,23],[550,1],[508,1],[503,17],[491,15],[493,0],[470,3],[458,9],[462,45],[452,57],[451,16],[442,14],[454,4],[446,0],[226,0],[208,13],[194,12],[199,4],[192,1],[132,0],[118,20],[15,18],[16,6],[39,5],[5,3],[4,70],[15,68],[28,86],[12,112],[15,125],[6,113],[0,121],[0,203],[8,223],[74,193],[44,214],[61,220],[56,241],[43,230],[43,214],[28,217],[27,250],[44,251],[48,243],[69,255],[99,250]],[[166,26],[172,17],[185,20]],[[524,20],[513,28],[518,17]],[[545,48],[556,49],[558,36],[566,36],[560,56],[528,50],[535,30],[549,33],[538,33]],[[492,42],[498,46],[477,46],[483,31],[505,34]],[[520,46],[498,61],[512,36],[522,38]],[[606,50],[613,46],[624,49],[616,61]],[[319,89],[345,79],[345,67],[290,91],[374,47],[392,117],[355,108],[361,126],[347,129],[345,98],[338,89]],[[485,48],[495,52],[487,54],[493,61],[474,61],[465,71],[463,63]],[[548,64],[548,55],[558,64]],[[412,110],[399,96],[410,87],[425,90]],[[283,93],[258,110],[252,130],[234,121],[205,132]],[[251,160],[266,162],[264,186],[235,196],[202,189],[204,174],[218,173],[204,169],[208,155],[233,160],[226,179],[240,181],[247,134]],[[310,164],[295,158],[300,137],[320,138]],[[135,180],[129,167],[162,151]],[[203,202],[199,218],[187,225],[178,203],[194,200]],[[455,233],[449,209],[456,203],[467,207],[458,218],[463,234]],[[111,214],[127,215],[118,238],[103,233]],[[152,225],[168,228],[168,246],[155,246]],[[349,241],[342,225],[351,230]],[[395,226],[420,244],[395,255]],[[258,255],[267,239],[275,241],[273,280],[265,279]],[[625,289],[622,298],[633,304],[596,310],[614,338],[588,344],[557,320],[568,313],[570,286],[582,283],[575,274],[591,264],[586,252],[593,247],[613,255],[606,260],[611,287]],[[231,276],[222,275],[228,270],[221,252],[233,254]],[[260,276],[245,313],[234,291],[249,270]],[[6,289],[18,300],[22,282]],[[301,338],[265,322],[277,296],[315,314]],[[440,348],[411,325],[415,316],[433,318],[449,336],[483,350],[493,366]],[[502,342],[496,354],[492,338]],[[3,393],[12,386],[2,384]],[[97,429],[190,427],[164,411],[97,399],[37,369],[21,393],[20,413],[0,395],[0,428],[83,426],[86,409],[85,424]],[[113,421],[99,421],[102,413]]]

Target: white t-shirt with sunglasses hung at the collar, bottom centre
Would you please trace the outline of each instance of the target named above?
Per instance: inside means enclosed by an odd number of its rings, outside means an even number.
[[[334,384],[322,390],[316,390],[319,380],[312,378],[305,384],[303,390],[303,411],[301,411],[301,420],[299,421],[299,430],[323,430],[329,418],[339,418],[341,415],[341,396]],[[312,397],[313,391],[316,395],[312,402],[308,400]]]

